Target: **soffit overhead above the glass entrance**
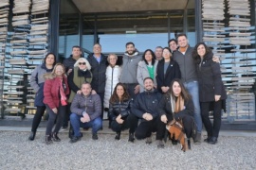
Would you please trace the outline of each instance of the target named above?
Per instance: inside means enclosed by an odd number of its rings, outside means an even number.
[[[194,8],[194,0],[72,0],[82,13]]]

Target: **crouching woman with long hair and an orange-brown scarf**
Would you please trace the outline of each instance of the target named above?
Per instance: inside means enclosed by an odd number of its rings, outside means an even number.
[[[184,88],[181,80],[178,78],[174,78],[170,86],[170,91],[163,95],[159,103],[160,119],[157,124],[158,129],[156,132],[156,140],[158,140],[157,147],[164,147],[162,140],[164,138],[166,125],[169,125],[169,127],[171,127],[171,125],[174,126],[176,125],[175,123],[179,123],[181,125],[180,132],[185,134],[171,134],[171,136],[174,137],[175,140],[179,140],[181,144],[181,139],[178,139],[179,136],[187,140],[183,142],[187,143],[188,148],[191,149],[190,138],[192,137],[192,116],[192,98],[187,90]],[[170,131],[170,128],[168,130]],[[186,148],[183,148],[183,150],[185,151]]]

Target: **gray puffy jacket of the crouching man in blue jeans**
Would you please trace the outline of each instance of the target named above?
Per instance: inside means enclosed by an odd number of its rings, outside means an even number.
[[[86,108],[86,109],[85,109]],[[88,113],[91,120],[101,116],[101,98],[99,94],[90,94],[85,97],[77,93],[72,101],[70,110],[72,113],[82,115],[83,111]]]

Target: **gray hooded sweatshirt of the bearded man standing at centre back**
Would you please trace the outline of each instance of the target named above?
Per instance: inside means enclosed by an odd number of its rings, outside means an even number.
[[[133,56],[123,55],[122,71],[120,75],[121,83],[137,83],[137,64],[142,59],[136,52]]]

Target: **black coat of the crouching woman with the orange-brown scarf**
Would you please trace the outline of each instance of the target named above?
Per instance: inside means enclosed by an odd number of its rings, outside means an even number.
[[[167,117],[172,117],[172,120],[175,118],[175,120],[183,119],[184,116],[190,115],[193,116],[193,102],[192,99],[189,99],[188,101],[184,102],[185,110],[180,110],[179,112],[174,113],[173,118],[173,111],[172,111],[172,105],[171,105],[171,99],[170,99],[170,93],[165,93],[159,103],[158,111],[159,116],[161,115],[168,115]],[[168,121],[172,121],[168,120]]]

